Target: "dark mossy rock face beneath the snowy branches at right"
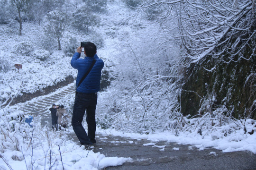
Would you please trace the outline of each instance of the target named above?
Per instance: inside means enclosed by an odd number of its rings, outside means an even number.
[[[229,55],[224,55],[221,58],[208,56],[197,64],[192,63],[183,79],[181,112],[198,114],[204,99],[214,99],[212,110],[225,106],[235,118],[256,119],[256,57],[249,59],[250,54],[244,51],[248,60],[237,57],[230,61]],[[211,68],[214,69],[210,72]]]

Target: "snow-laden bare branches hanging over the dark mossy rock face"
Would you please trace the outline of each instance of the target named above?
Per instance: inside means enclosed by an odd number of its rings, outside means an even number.
[[[256,30],[255,2],[253,0],[188,0],[183,8],[187,17],[179,17],[186,55],[197,62],[206,55],[223,56],[229,51],[227,62],[250,59],[243,55],[246,48],[255,51],[253,41]],[[230,49],[230,50],[228,50]]]

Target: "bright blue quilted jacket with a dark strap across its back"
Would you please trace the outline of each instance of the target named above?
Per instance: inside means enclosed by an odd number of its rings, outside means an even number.
[[[76,86],[79,84],[83,75],[90,68],[91,63],[93,61],[92,57],[85,57],[84,59],[79,59],[81,54],[79,52],[74,53],[71,59],[71,66],[75,69],[78,69],[77,77],[76,77]],[[101,85],[101,69],[104,67],[104,62],[102,59],[99,59],[97,54],[94,55],[94,59],[96,62],[91,69],[88,76],[83,80],[83,82],[76,89],[77,92],[80,93],[95,93],[100,91]]]

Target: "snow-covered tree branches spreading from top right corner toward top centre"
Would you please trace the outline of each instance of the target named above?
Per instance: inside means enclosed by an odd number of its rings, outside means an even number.
[[[177,37],[181,37],[186,48],[184,57],[191,62],[197,62],[206,55],[221,56],[230,48],[234,50],[229,60],[237,54],[242,59],[254,55],[253,52],[253,55],[244,58],[239,54],[256,34],[254,0],[144,0],[137,9],[145,12],[161,9],[161,13],[153,12],[155,22],[164,29],[178,28]],[[152,18],[152,14],[148,16]],[[177,22],[179,27],[174,24]],[[224,48],[219,51],[219,47]],[[255,51],[256,47],[249,48]]]

